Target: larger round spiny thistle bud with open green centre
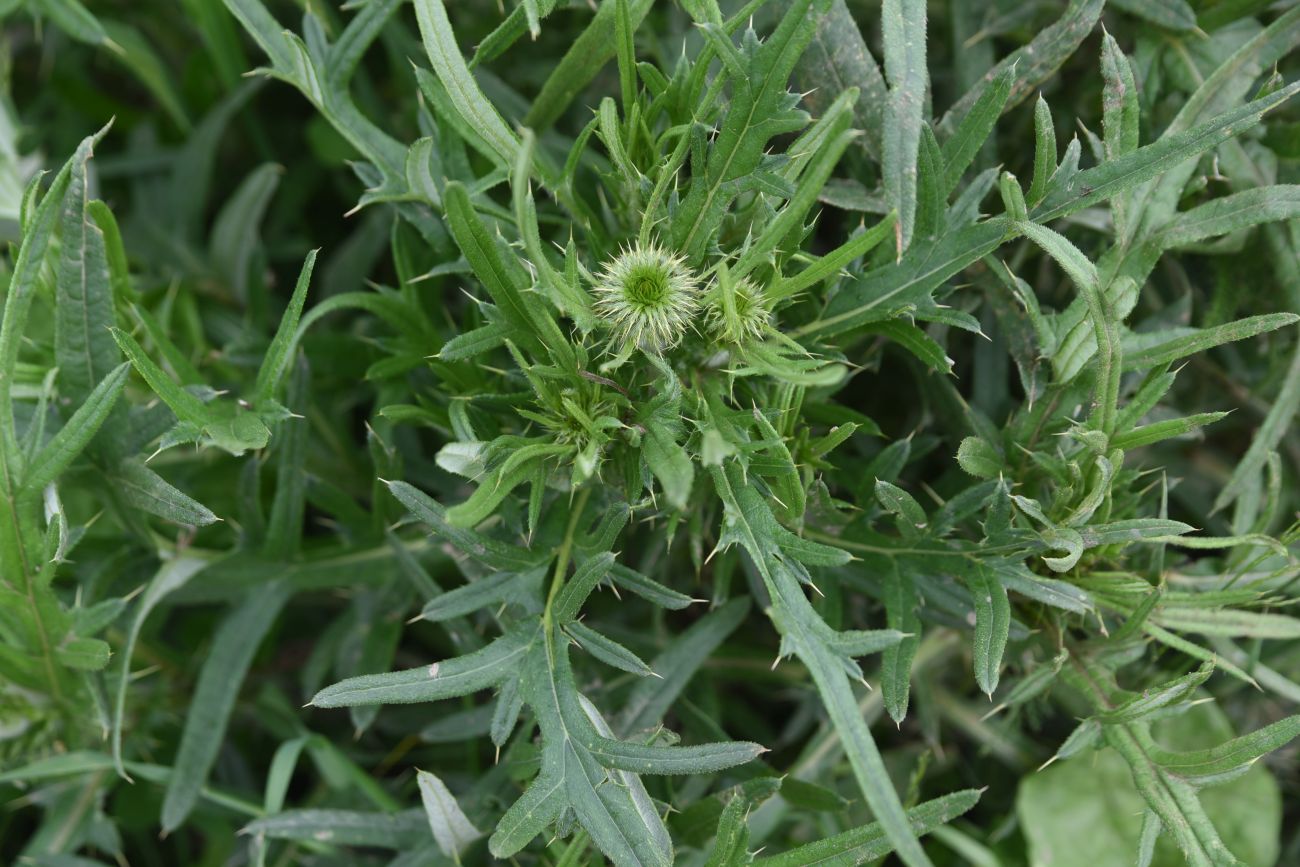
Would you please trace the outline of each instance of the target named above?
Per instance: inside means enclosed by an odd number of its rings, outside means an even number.
[[[660,352],[676,346],[699,305],[699,279],[684,257],[640,243],[604,264],[595,312],[624,347]]]

